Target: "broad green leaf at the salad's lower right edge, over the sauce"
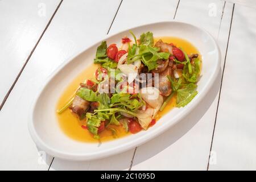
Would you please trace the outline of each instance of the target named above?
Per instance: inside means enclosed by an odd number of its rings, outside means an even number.
[[[192,99],[196,96],[197,85],[190,83],[182,89],[177,90],[177,100],[176,100],[176,106],[177,107],[184,107],[189,102],[192,101]]]

